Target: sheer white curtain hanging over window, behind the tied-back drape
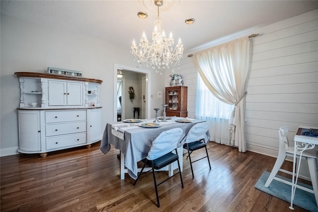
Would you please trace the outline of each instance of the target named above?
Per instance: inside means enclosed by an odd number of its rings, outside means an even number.
[[[197,84],[196,118],[210,123],[210,140],[231,145],[230,117],[234,105],[221,102],[206,87],[200,75]]]

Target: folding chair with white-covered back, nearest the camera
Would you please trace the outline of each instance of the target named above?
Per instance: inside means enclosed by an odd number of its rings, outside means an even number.
[[[151,147],[150,151],[148,152],[147,158],[142,160],[145,163],[145,165],[141,169],[137,179],[134,182],[134,186],[135,186],[138,179],[140,178],[140,176],[147,173],[147,172],[143,173],[143,170],[144,170],[146,164],[152,167],[152,169],[149,171],[153,171],[154,184],[155,184],[155,190],[156,190],[156,196],[157,196],[157,207],[158,208],[160,207],[160,203],[159,203],[159,195],[158,195],[158,188],[157,187],[160,184],[162,184],[166,180],[170,179],[174,175],[179,174],[180,180],[181,180],[181,186],[183,188],[182,175],[180,172],[181,169],[180,169],[179,157],[178,157],[178,153],[177,153],[177,143],[181,137],[181,134],[182,134],[182,129],[180,129],[180,128],[169,129],[169,130],[163,131],[159,134],[159,136],[153,142],[152,147]],[[175,151],[175,154],[172,153],[173,150]],[[159,184],[157,184],[156,176],[155,176],[155,169],[156,170],[161,169],[161,168],[173,163],[174,161],[178,162],[179,171],[177,173],[175,173],[174,175],[172,175],[171,177],[168,177],[165,180],[163,180],[162,182],[160,182]]]

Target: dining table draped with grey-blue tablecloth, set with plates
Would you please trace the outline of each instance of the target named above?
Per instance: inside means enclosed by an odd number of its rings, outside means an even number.
[[[137,121],[136,121],[137,120]],[[203,120],[170,117],[165,121],[154,122],[152,119],[126,119],[120,122],[107,123],[100,144],[100,150],[106,154],[111,145],[120,150],[120,179],[125,179],[125,173],[133,179],[137,178],[141,168],[138,162],[145,159],[152,146],[153,141],[163,131],[172,128],[181,128],[182,135],[178,141],[177,152],[182,172],[183,147],[182,141],[185,139],[190,128]],[[182,121],[183,120],[183,121]],[[209,131],[206,133],[205,141],[210,138]],[[177,163],[173,163],[159,171],[168,171],[168,175],[173,175],[173,170],[177,169]],[[145,170],[147,171],[147,170]]]

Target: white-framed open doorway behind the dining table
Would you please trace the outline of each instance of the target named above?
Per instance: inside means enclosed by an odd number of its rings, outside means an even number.
[[[144,78],[141,79],[142,80],[142,87],[140,88],[140,96],[137,97],[138,100],[136,99],[136,101],[140,101],[142,102],[141,104],[139,104],[138,106],[141,107],[141,115],[140,118],[149,118],[150,117],[150,78],[151,78],[151,72],[148,70],[144,70],[144,69],[138,69],[138,68],[134,68],[134,67],[128,67],[128,66],[123,66],[123,65],[119,65],[119,64],[114,64],[114,100],[113,100],[113,105],[114,105],[114,109],[113,109],[113,121],[119,121],[118,120],[118,103],[119,103],[119,96],[118,96],[118,80],[122,81],[122,93],[121,93],[121,114],[120,114],[120,118],[121,121],[124,120],[125,118],[132,118],[132,114],[133,114],[133,110],[134,109],[130,109],[129,107],[131,107],[132,105],[130,103],[128,103],[127,98],[128,98],[128,93],[126,92],[127,88],[125,88],[125,79],[123,78],[118,78],[117,79],[117,70],[122,70],[124,72],[135,72],[135,73],[139,73],[144,75]],[[128,79],[127,79],[128,80]],[[129,81],[126,82],[126,84]],[[130,86],[130,85],[129,85]],[[126,94],[127,93],[127,94]],[[126,95],[125,95],[126,94]],[[135,100],[134,100],[135,101]],[[128,104],[128,105],[127,105]],[[134,104],[137,104],[134,103]],[[125,106],[126,105],[126,106]],[[127,111],[129,109],[129,111]],[[131,110],[131,111],[130,111]],[[126,113],[125,113],[126,111]],[[127,114],[128,113],[128,114]],[[132,117],[130,117],[132,116]]]

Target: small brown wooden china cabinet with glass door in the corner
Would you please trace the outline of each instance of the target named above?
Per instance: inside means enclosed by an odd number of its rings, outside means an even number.
[[[165,88],[166,116],[187,117],[188,87],[172,86]]]

